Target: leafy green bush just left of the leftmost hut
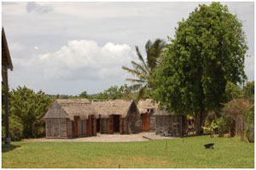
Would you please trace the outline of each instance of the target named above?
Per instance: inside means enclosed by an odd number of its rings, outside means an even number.
[[[23,127],[23,137],[32,138],[44,135],[42,118],[52,99],[47,97],[44,92],[35,93],[32,89],[18,87],[10,92],[10,115],[20,119]]]

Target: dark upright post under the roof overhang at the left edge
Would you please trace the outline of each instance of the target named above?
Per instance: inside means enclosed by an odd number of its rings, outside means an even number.
[[[5,111],[5,140],[4,140],[4,144],[10,144],[10,138],[9,138],[9,87],[8,87],[8,70],[7,70],[6,66],[3,66],[3,88],[4,88],[4,111]]]

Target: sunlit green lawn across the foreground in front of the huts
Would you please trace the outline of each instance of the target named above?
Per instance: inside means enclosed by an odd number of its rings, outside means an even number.
[[[214,150],[204,149],[203,144],[212,142]],[[254,167],[254,144],[236,138],[12,144],[2,147],[2,167]]]

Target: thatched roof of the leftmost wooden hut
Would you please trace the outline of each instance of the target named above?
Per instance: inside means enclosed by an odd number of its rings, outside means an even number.
[[[68,118],[73,121],[73,116],[85,120],[95,114],[96,111],[88,99],[56,99],[44,118]]]

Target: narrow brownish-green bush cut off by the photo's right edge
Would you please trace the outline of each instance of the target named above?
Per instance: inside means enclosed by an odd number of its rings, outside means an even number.
[[[245,133],[247,141],[254,142],[254,104],[247,110],[245,121]]]

